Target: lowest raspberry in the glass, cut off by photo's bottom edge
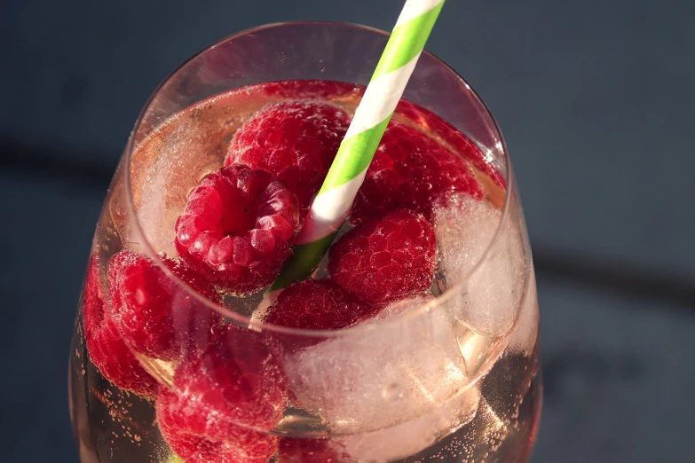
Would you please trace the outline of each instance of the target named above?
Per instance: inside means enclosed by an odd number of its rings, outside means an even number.
[[[207,412],[186,391],[162,388],[156,410],[162,436],[186,463],[266,463],[277,449],[277,437]]]

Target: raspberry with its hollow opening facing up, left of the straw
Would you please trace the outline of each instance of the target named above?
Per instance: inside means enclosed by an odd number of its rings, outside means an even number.
[[[176,248],[193,270],[236,294],[268,286],[290,255],[295,195],[263,170],[230,166],[203,177],[176,222]]]

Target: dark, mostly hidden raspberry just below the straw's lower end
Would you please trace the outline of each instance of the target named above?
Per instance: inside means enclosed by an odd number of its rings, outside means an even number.
[[[289,286],[278,295],[265,319],[273,325],[311,330],[339,330],[371,314],[369,306],[354,301],[332,279],[310,279]]]

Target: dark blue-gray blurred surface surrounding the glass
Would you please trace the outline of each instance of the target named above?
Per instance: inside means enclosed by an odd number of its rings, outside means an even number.
[[[400,0],[0,4],[4,462],[76,462],[67,355],[140,107],[194,52],[280,20],[391,28]],[[535,463],[691,461],[695,4],[449,0],[428,48],[507,138],[538,272]]]

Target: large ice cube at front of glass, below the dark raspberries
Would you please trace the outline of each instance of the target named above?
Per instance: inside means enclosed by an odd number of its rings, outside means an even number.
[[[285,373],[298,405],[337,434],[391,428],[436,412],[469,377],[461,328],[431,298],[391,304],[376,318],[292,354]]]

